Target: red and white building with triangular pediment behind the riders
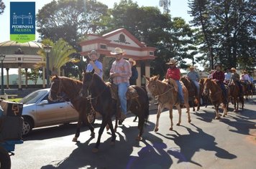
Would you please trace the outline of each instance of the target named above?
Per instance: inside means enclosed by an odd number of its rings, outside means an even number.
[[[104,79],[109,77],[109,69],[114,58],[110,52],[114,52],[114,48],[120,47],[124,50],[124,58],[132,58],[137,62],[137,71],[139,77],[137,85],[145,84],[143,75],[150,77],[150,61],[155,59],[155,47],[147,47],[144,42],[136,39],[127,29],[116,29],[107,34],[87,34],[88,39],[80,42],[82,47],[81,55],[88,56],[91,50],[96,50],[100,54],[99,60],[103,64]]]

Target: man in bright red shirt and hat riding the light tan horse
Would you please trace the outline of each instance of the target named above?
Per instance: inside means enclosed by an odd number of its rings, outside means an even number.
[[[178,85],[178,97],[180,100],[180,105],[183,106],[184,105],[184,96],[183,96],[183,90],[182,90],[182,86],[180,84],[180,69],[178,69],[178,67],[176,67],[176,61],[175,59],[170,59],[169,62],[167,62],[166,64],[169,65],[169,68],[166,72],[165,78],[166,79],[174,79]]]

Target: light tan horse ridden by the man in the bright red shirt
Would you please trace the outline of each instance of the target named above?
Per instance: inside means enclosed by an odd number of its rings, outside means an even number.
[[[180,125],[181,122],[181,108],[180,103],[178,101],[178,90],[176,82],[172,81],[171,84],[168,84],[168,82],[164,79],[163,81],[159,80],[159,74],[154,77],[146,77],[147,79],[147,88],[150,91],[150,93],[157,98],[158,100],[158,108],[157,108],[157,122],[155,124],[155,132],[158,131],[158,125],[159,125],[159,117],[161,112],[164,108],[168,108],[169,114],[170,114],[170,127],[169,130],[173,130],[173,106],[175,106],[178,110],[178,123],[177,125]],[[171,79],[170,79],[171,80]],[[185,105],[187,107],[188,112],[188,122],[191,122],[191,115],[189,112],[189,105],[188,105],[188,90],[183,85],[183,92],[184,92],[184,101]]]

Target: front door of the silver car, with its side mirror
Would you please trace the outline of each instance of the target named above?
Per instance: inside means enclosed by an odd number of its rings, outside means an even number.
[[[36,105],[37,110],[37,124],[39,126],[57,125],[67,122],[67,103],[63,101],[52,102],[46,95],[42,100],[47,100],[47,104]]]

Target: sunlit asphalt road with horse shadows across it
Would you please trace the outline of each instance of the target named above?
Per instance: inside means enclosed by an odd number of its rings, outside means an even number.
[[[228,112],[214,120],[214,111],[201,107],[191,113],[188,123],[183,109],[180,126],[169,130],[169,113],[160,116],[158,132],[154,132],[156,110],[151,107],[150,119],[142,141],[135,140],[137,122],[128,117],[116,132],[116,143],[104,130],[99,153],[92,153],[101,120],[96,120],[96,137],[82,128],[74,143],[76,123],[41,128],[16,145],[12,168],[255,168],[256,166],[256,97],[246,102],[244,110]],[[232,107],[230,105],[229,107]],[[173,112],[174,122],[178,113]]]

